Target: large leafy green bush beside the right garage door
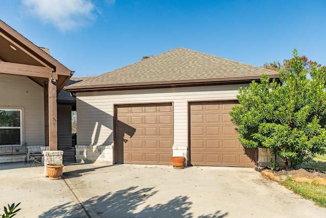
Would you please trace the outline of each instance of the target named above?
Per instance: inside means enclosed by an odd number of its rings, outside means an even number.
[[[279,72],[279,82],[269,83],[263,74],[260,83],[240,88],[240,104],[230,112],[242,145],[269,148],[285,167],[326,153],[326,71],[312,66],[309,80],[296,50],[293,56],[290,66]]]

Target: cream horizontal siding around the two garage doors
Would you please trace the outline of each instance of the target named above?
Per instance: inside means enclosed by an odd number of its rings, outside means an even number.
[[[114,105],[173,102],[174,146],[187,147],[188,102],[236,100],[240,85],[77,93],[77,144],[113,144]]]

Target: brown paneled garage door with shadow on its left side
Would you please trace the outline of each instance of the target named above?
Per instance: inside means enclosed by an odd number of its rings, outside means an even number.
[[[172,104],[116,106],[117,163],[171,164]]]

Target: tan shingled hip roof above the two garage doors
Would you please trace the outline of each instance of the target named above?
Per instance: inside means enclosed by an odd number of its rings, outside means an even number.
[[[279,77],[273,70],[178,47],[65,89],[78,92],[243,83],[259,79],[263,73]]]

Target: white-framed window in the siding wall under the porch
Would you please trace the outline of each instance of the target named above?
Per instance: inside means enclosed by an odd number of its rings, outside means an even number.
[[[0,109],[0,146],[22,141],[22,110]]]

